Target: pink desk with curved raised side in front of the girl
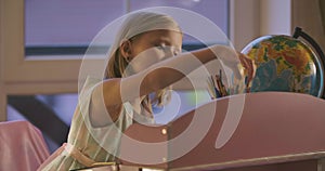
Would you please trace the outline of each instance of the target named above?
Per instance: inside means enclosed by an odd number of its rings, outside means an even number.
[[[236,122],[238,119],[238,116],[226,114],[236,106],[231,102],[240,104],[243,100],[244,108],[235,130],[226,143],[216,148],[223,122]],[[196,111],[200,111],[198,114],[203,118],[212,117],[206,120],[210,127],[193,149],[172,160],[191,144],[191,139],[182,143],[169,141],[180,137],[190,127],[198,132],[206,127],[205,122],[192,126]],[[230,118],[225,119],[226,116]],[[262,92],[224,97],[203,105],[167,126],[132,124],[126,134],[144,145],[130,144],[127,137],[121,140],[120,154],[130,158],[123,158],[121,162],[125,166],[162,170],[325,170],[325,101],[307,94]],[[195,140],[196,135],[191,137]],[[152,143],[160,145],[155,148],[148,145]],[[132,156],[136,157],[135,160],[148,162],[134,162]]]

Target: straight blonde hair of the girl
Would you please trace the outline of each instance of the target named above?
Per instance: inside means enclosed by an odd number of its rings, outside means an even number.
[[[119,47],[127,40],[132,41],[136,36],[151,30],[166,29],[181,32],[177,22],[165,14],[154,12],[135,12],[127,16],[122,23],[121,29],[117,34],[114,43],[110,47],[108,65],[106,68],[106,78],[122,78],[129,62],[122,57]],[[152,104],[158,106],[165,105],[170,100],[170,93],[167,89],[155,92],[153,100],[148,95],[142,102],[142,106],[148,111],[152,110]]]

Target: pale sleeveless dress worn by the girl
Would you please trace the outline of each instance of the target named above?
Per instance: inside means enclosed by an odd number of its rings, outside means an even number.
[[[133,123],[134,110],[131,103],[122,105],[119,118],[109,126],[93,128],[89,119],[91,93],[101,80],[88,78],[79,95],[79,104],[75,110],[67,144],[80,150],[95,162],[115,161],[118,155],[122,132]],[[152,120],[148,120],[152,122]],[[67,150],[55,154],[51,161],[46,161],[42,170],[72,170],[86,166],[79,163]],[[50,157],[51,158],[51,157]]]

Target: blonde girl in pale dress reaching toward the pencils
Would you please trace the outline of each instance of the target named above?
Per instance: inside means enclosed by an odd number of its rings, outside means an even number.
[[[110,48],[105,79],[86,81],[67,143],[39,170],[115,161],[122,132],[133,122],[154,123],[152,104],[166,104],[169,87],[203,64],[221,60],[239,75],[237,64],[242,62],[248,79],[253,77],[252,62],[222,45],[181,53],[182,37],[170,16],[130,14]],[[216,55],[227,52],[229,57]]]

